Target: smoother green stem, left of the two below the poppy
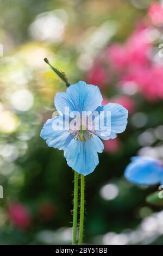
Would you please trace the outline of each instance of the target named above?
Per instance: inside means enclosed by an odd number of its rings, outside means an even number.
[[[78,173],[74,170],[74,198],[73,198],[73,231],[72,245],[76,245],[78,218]]]

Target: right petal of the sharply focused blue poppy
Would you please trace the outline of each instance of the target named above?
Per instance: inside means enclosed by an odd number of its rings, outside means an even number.
[[[100,126],[100,129],[96,131],[96,135],[101,137],[102,139],[114,139],[116,138],[116,133],[121,133],[126,129],[127,126],[127,118],[128,111],[126,108],[117,103],[108,103],[102,107],[98,107],[96,109],[97,112],[107,111],[110,112],[111,118],[104,116],[104,126]],[[107,120],[109,118],[109,120]],[[108,126],[106,126],[106,121],[108,122]],[[111,124],[110,124],[111,121]]]

